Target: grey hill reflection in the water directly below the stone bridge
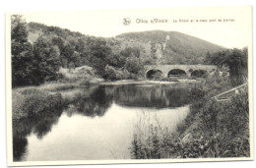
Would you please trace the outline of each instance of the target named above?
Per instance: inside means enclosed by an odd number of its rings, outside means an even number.
[[[189,103],[188,89],[164,85],[116,85],[113,95],[117,104],[126,106],[165,108]]]

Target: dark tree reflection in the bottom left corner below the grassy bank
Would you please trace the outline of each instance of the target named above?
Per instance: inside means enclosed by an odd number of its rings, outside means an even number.
[[[38,139],[47,135],[58,119],[63,109],[56,108],[51,111],[43,111],[29,118],[13,120],[13,157],[14,161],[20,161],[27,152],[27,136],[35,134]]]

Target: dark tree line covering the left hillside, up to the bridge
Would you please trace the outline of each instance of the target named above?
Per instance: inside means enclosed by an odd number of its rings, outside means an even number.
[[[29,32],[36,34],[34,29],[41,33],[30,41]],[[125,69],[131,74],[138,74],[141,68],[141,51],[136,47],[120,49],[114,46],[118,50],[113,52],[113,45],[116,44],[107,38],[36,23],[27,24],[19,15],[12,16],[11,39],[13,86],[56,81],[61,78],[58,74],[60,67],[91,66],[96,75],[104,79],[109,76],[109,72],[105,72],[106,66]]]

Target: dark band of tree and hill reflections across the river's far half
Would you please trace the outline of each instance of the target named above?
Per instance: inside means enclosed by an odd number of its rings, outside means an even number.
[[[89,95],[90,92],[90,95]],[[112,101],[134,107],[180,107],[189,103],[189,91],[173,85],[138,84],[99,85],[93,90],[77,94],[67,109],[68,116],[80,113],[85,116],[103,116]]]

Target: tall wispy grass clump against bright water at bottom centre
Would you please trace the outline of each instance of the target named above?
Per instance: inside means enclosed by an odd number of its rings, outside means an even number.
[[[173,130],[157,115],[144,113],[134,125],[131,155],[135,159],[167,158]]]

